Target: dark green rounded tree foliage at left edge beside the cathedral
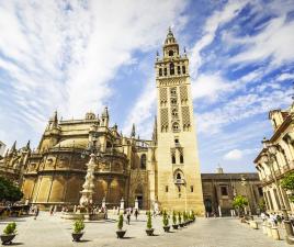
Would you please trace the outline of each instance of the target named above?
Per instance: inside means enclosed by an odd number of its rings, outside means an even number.
[[[19,187],[14,186],[10,180],[0,177],[0,201],[16,202],[23,197]]]

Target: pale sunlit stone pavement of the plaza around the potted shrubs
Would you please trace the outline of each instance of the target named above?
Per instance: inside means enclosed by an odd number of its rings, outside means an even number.
[[[261,229],[251,229],[237,218],[197,218],[183,229],[165,233],[161,217],[154,218],[155,236],[145,233],[146,216],[139,215],[138,221],[131,225],[124,239],[115,235],[117,215],[106,222],[86,223],[81,243],[71,242],[71,221],[61,220],[60,214],[49,216],[42,212],[36,221],[33,217],[13,218],[18,223],[18,236],[14,245],[23,247],[66,247],[66,246],[120,246],[120,247],[285,247],[284,240],[273,240],[262,234]],[[132,218],[133,220],[133,218]],[[8,220],[0,221],[0,231]]]

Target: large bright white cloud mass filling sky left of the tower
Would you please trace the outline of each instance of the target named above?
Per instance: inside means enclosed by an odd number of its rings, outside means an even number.
[[[112,97],[111,81],[118,68],[134,61],[135,50],[161,44],[169,25],[181,29],[185,4],[2,1],[1,130],[10,130],[13,115],[41,130],[55,109],[65,117],[100,111]]]

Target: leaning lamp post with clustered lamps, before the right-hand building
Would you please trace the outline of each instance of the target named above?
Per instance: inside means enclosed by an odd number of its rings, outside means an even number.
[[[284,222],[284,226],[285,226],[285,231],[286,231],[286,242],[287,242],[287,244],[293,245],[294,244],[293,228],[292,228],[291,222],[289,220],[287,211],[286,211],[286,207],[285,207],[285,204],[283,201],[282,189],[279,184],[279,181],[278,181],[275,173],[274,173],[274,170],[273,170],[273,164],[275,161],[275,155],[276,155],[278,148],[275,145],[271,144],[270,141],[268,141],[265,137],[263,138],[262,144],[263,144],[263,149],[264,149],[262,160],[264,164],[267,164],[269,166],[271,175],[273,177],[274,184],[278,189],[278,195],[279,195],[279,200],[281,203],[281,211],[282,211],[283,217],[284,217],[283,222]]]

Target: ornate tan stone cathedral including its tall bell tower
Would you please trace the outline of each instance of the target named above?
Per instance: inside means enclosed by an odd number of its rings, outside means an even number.
[[[38,147],[16,144],[0,160],[0,172],[13,175],[24,200],[44,207],[79,203],[89,154],[97,154],[93,203],[109,207],[204,211],[189,59],[180,55],[169,30],[162,57],[156,58],[158,110],[150,141],[136,137],[133,125],[124,136],[110,125],[108,108],[80,120],[49,119]]]

